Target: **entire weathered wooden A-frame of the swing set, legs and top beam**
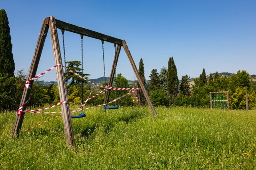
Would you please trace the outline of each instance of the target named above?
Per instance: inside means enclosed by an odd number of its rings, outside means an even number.
[[[113,61],[113,65],[112,65],[112,70],[110,73],[110,80],[108,82],[109,86],[112,86],[113,80],[114,80],[114,72],[115,72],[115,68],[116,68],[116,64],[118,61],[118,57],[120,54],[120,50],[121,47],[124,48],[124,51],[132,65],[132,69],[134,70],[134,73],[138,79],[138,82],[140,84],[140,87],[142,88],[142,92],[148,102],[148,105],[153,113],[154,116],[156,116],[156,110],[154,109],[154,106],[152,105],[152,102],[148,96],[148,93],[145,89],[145,86],[140,78],[138,69],[136,68],[136,65],[134,63],[134,60],[132,59],[132,55],[128,49],[128,46],[126,44],[125,40],[121,40],[121,39],[117,39],[114,37],[110,37],[108,35],[104,35],[102,33],[98,33],[86,28],[82,28],[82,27],[78,27],[76,25],[72,25],[70,23],[66,23],[60,20],[56,20],[53,16],[50,16],[48,18],[45,18],[42,24],[42,28],[38,37],[38,41],[36,44],[36,50],[34,52],[34,56],[32,59],[32,63],[30,66],[30,70],[28,73],[28,78],[27,80],[30,80],[31,78],[33,78],[34,76],[36,76],[36,71],[38,68],[38,64],[40,61],[40,57],[42,54],[42,50],[44,47],[44,41],[46,39],[47,33],[48,33],[48,29],[50,28],[50,35],[51,35],[51,40],[52,40],[52,49],[53,49],[53,54],[54,54],[54,61],[55,64],[61,64],[62,65],[62,58],[61,58],[61,52],[60,52],[60,44],[59,44],[59,39],[58,39],[58,32],[57,32],[57,28],[58,29],[64,29],[66,31],[70,31],[73,33],[78,33],[80,35],[85,35],[87,37],[92,37],[95,39],[100,39],[100,40],[104,40],[110,43],[114,43],[117,45],[116,48],[116,53],[114,56],[114,61]],[[57,81],[58,81],[58,89],[59,89],[59,94],[60,94],[60,101],[67,101],[68,100],[68,94],[67,94],[67,90],[66,90],[66,83],[65,83],[65,79],[64,79],[64,71],[62,67],[56,67],[56,75],[57,75]],[[34,80],[30,81],[29,86],[32,87]],[[22,95],[22,99],[20,101],[20,107],[24,106],[21,108],[21,111],[26,110],[26,105],[25,102],[29,100],[30,98],[30,92],[31,92],[31,88],[24,88],[23,91],[23,95]],[[106,92],[106,97],[104,100],[104,104],[106,104],[108,102],[109,99],[109,95],[110,95],[110,90],[107,90]],[[73,132],[73,128],[72,128],[72,121],[70,118],[70,109],[69,109],[69,104],[68,103],[64,103],[61,105],[61,109],[62,109],[62,119],[63,119],[63,124],[64,124],[64,131],[66,134],[66,141],[70,146],[74,146],[75,145],[75,141],[74,141],[74,132]],[[24,119],[24,114],[19,115],[17,114],[16,116],[16,120],[15,120],[15,124],[14,124],[14,128],[12,131],[12,135],[11,137],[13,138],[15,135],[18,137],[19,133],[20,133],[20,129],[22,127],[22,122]]]

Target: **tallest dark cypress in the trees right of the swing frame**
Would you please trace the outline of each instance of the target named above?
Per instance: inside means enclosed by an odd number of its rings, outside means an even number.
[[[167,70],[167,90],[172,96],[177,96],[179,92],[179,79],[177,74],[177,68],[174,63],[173,57],[169,58],[168,70]]]

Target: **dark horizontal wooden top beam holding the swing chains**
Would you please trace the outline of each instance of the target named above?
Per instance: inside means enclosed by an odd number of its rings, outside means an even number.
[[[78,27],[76,25],[72,25],[70,23],[66,23],[66,22],[63,22],[63,21],[60,21],[60,20],[56,20],[56,25],[57,25],[57,28],[59,28],[59,29],[65,29],[65,30],[73,32],[73,33],[82,34],[82,35],[85,35],[87,37],[92,37],[92,38],[104,40],[104,41],[114,43],[114,44],[118,44],[118,45],[122,46],[122,39],[110,37],[108,35],[98,33],[96,31],[92,31],[90,29],[86,29],[86,28],[83,28],[83,27]]]

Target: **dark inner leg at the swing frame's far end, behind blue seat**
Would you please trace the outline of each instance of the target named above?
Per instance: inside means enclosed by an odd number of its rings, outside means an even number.
[[[117,62],[118,62],[120,51],[121,51],[121,45],[117,45],[116,52],[115,52],[115,57],[114,57],[114,61],[113,61],[112,69],[111,69],[111,73],[110,73],[110,78],[109,78],[109,81],[108,81],[108,86],[112,86],[112,84],[113,84],[113,80],[114,80],[114,76],[115,76],[115,72],[116,72],[116,65],[117,65]],[[106,97],[105,97],[105,100],[104,100],[104,104],[108,103],[109,95],[110,95],[110,89],[108,89],[107,92],[106,92]]]

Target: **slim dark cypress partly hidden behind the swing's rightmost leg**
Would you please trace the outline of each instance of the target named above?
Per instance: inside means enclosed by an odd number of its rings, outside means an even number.
[[[139,74],[140,74],[140,78],[144,84],[144,86],[146,86],[146,78],[145,78],[145,72],[144,72],[144,64],[143,64],[143,60],[142,58],[140,59],[140,64],[139,64]],[[137,85],[138,85],[138,88],[140,88],[140,84],[139,82],[137,81]],[[144,105],[146,103],[146,98],[142,92],[142,90],[139,90],[138,91],[138,103],[141,104],[141,105]]]

